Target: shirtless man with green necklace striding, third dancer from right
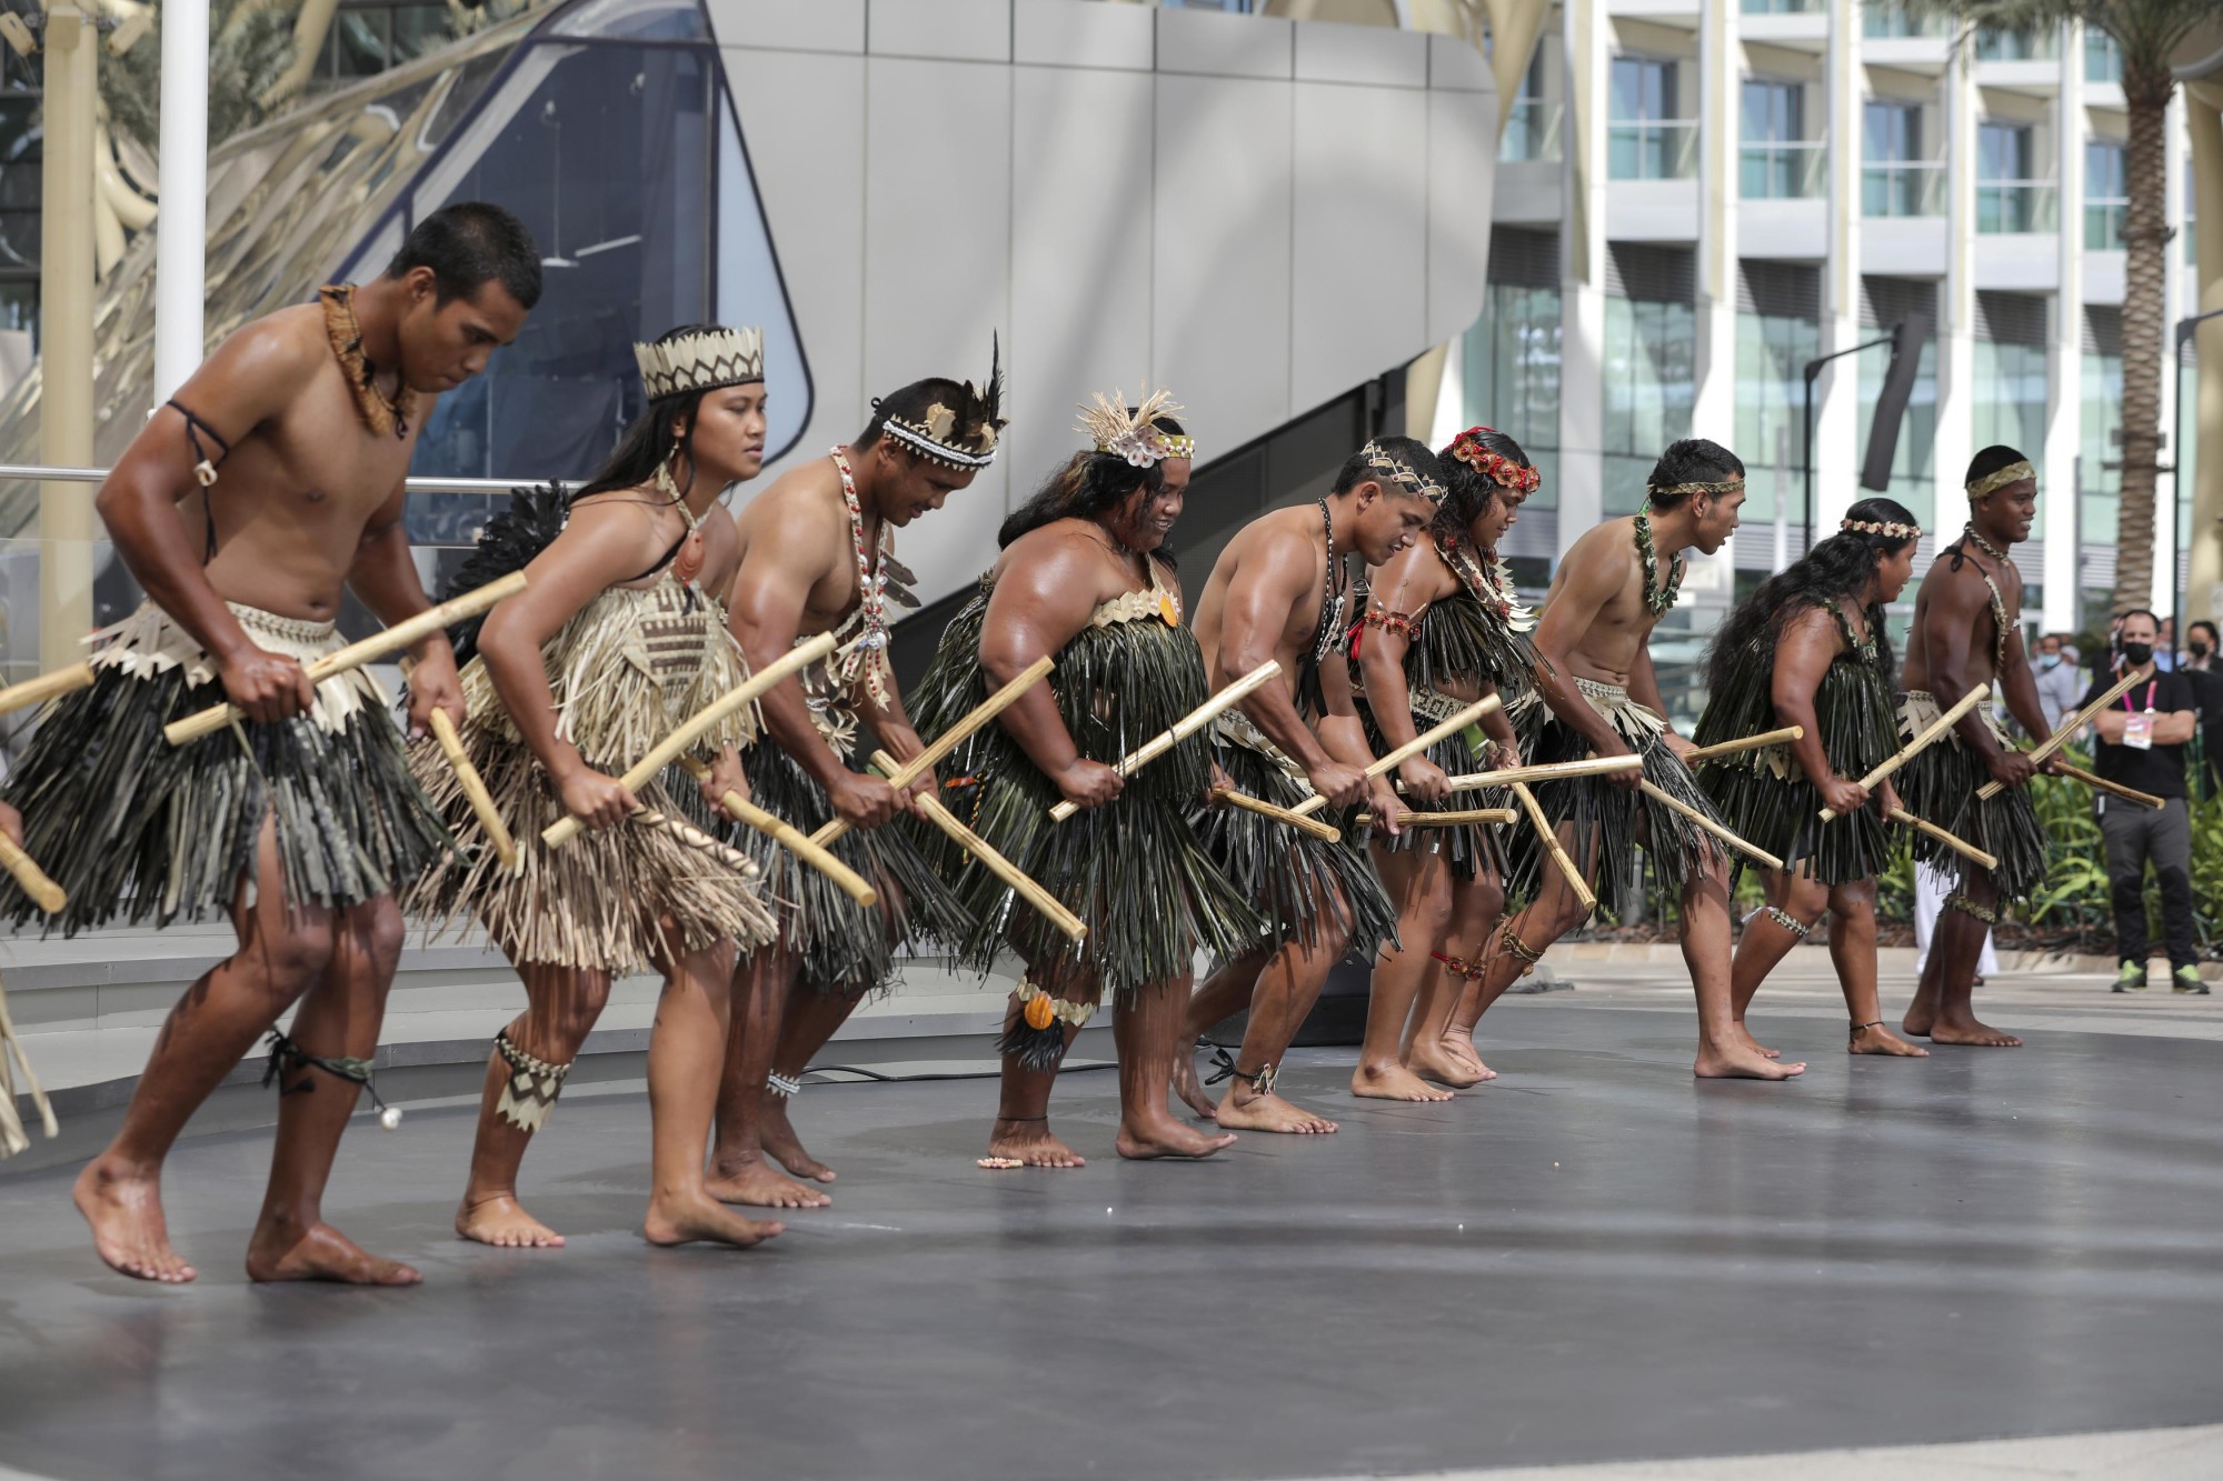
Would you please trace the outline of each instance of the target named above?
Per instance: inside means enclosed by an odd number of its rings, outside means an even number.
[[[1536,692],[1552,720],[1532,761],[1581,756],[1643,756],[1643,772],[1576,776],[1536,787],[1545,814],[1558,818],[1561,845],[1592,887],[1609,867],[1625,912],[1632,845],[1652,856],[1663,892],[1683,901],[1683,961],[1698,996],[1698,1056],[1703,1079],[1745,1076],[1783,1081],[1805,1063],[1778,1063],[1738,1034],[1729,1007],[1729,869],[1721,845],[1681,814],[1641,792],[1649,781],[1678,801],[1714,812],[1683,754],[1692,749],[1667,725],[1658,678],[1652,672],[1652,629],[1674,607],[1683,585],[1676,551],[1696,545],[1714,554],[1736,531],[1745,503],[1745,465],[1727,447],[1685,438],[1661,454],[1647,485],[1649,503],[1629,518],[1607,520],[1574,543],[1552,576],[1536,652],[1543,656]],[[1449,1034],[1467,1038],[1476,1018],[1527,972],[1545,947],[1587,918],[1567,878],[1527,841],[1527,910],[1505,923],[1503,952],[1489,958],[1461,998]],[[1641,885],[1638,885],[1641,887]]]

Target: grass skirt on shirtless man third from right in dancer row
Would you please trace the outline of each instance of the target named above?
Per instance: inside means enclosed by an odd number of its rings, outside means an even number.
[[[1661,738],[1667,723],[1652,714],[1618,685],[1603,685],[1589,678],[1572,678],[1576,692],[1589,707],[1605,716],[1632,752],[1645,761],[1645,781],[1667,792],[1678,803],[1687,803],[1707,816],[1718,816],[1714,803],[1698,787],[1667,743]],[[1581,761],[1589,756],[1589,740],[1558,716],[1545,720],[1532,749],[1534,763]],[[1605,776],[1569,776],[1536,787],[1536,803],[1552,823],[1574,825],[1574,845],[1567,849],[1576,867],[1594,881],[1598,903],[1616,916],[1632,914],[1643,903],[1643,872],[1636,867],[1636,845],[1652,856],[1652,874],[1661,894],[1678,898],[1683,885],[1707,863],[1725,863],[1725,849],[1712,834],[1683,814],[1663,807],[1654,798],[1616,787]],[[1536,829],[1523,829],[1514,854],[1516,889],[1534,898],[1543,883],[1543,869],[1556,869]]]

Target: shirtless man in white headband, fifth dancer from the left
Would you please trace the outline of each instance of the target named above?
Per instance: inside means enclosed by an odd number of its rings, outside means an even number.
[[[1398,816],[1392,778],[1365,776],[1374,754],[1345,658],[1347,632],[1360,618],[1345,558],[1383,565],[1412,545],[1436,516],[1438,474],[1423,443],[1376,438],[1345,460],[1327,496],[1252,520],[1220,551],[1194,623],[1212,689],[1269,658],[1280,663],[1280,678],[1220,718],[1220,765],[1236,792],[1280,807],[1325,796],[1334,807],[1365,803],[1376,818]],[[1192,1110],[1232,1132],[1334,1132],[1334,1121],[1274,1094],[1274,1076],[1329,967],[1345,952],[1372,963],[1376,947],[1396,936],[1396,905],[1352,841],[1323,843],[1234,807],[1198,812],[1196,832],[1205,854],[1267,918],[1267,936],[1189,998],[1174,1085]],[[1398,832],[1394,823],[1389,832]],[[1243,1047],[1227,1094],[1212,1105],[1196,1083],[1196,1041],[1243,1005]]]

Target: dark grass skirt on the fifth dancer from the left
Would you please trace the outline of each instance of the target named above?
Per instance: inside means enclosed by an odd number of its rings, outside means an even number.
[[[1240,712],[1223,714],[1214,736],[1236,792],[1276,807],[1312,798],[1296,763]],[[1380,945],[1396,941],[1396,905],[1358,841],[1325,843],[1236,807],[1198,807],[1192,823],[1212,863],[1265,916],[1258,945],[1314,947],[1329,934],[1323,927],[1334,925],[1349,938],[1347,956],[1372,965]]]

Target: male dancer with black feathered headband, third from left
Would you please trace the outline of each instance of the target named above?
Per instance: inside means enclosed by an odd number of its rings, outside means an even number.
[[[925,865],[903,829],[883,827],[911,812],[909,796],[931,796],[927,772],[900,792],[869,772],[851,772],[858,723],[896,761],[925,745],[903,709],[887,665],[887,603],[916,607],[916,580],[894,556],[896,529],[943,507],[996,458],[1003,431],[1003,371],[983,387],[969,380],[914,380],[874,402],[865,431],[847,447],[782,474],[740,511],[740,571],[729,627],[749,669],[762,669],[798,640],[831,632],[840,652],[762,696],[765,727],[742,754],[758,805],[814,832],[827,818],[851,829],[838,852],[880,894],[878,914],[860,912],[825,876],[758,834],[736,838],[767,872],[780,901],[778,943],[734,967],[736,1012],[718,1092],[718,1143],[711,1192],[727,1203],[823,1207],[831,1199],[791,1183],[831,1183],[834,1170],[803,1150],[787,1101],[803,1072],[865,994],[885,987],[896,947],[923,932],[956,943],[969,921],[949,887]]]

